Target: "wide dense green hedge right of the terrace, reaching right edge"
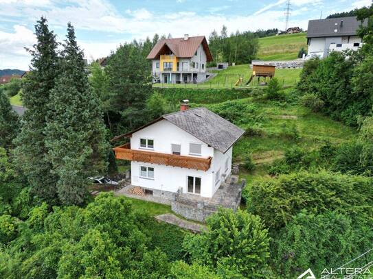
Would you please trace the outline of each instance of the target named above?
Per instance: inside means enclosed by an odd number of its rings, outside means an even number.
[[[253,184],[249,189],[251,213],[269,228],[282,228],[302,209],[315,214],[339,210],[350,216],[373,213],[373,180],[319,171],[299,171]]]

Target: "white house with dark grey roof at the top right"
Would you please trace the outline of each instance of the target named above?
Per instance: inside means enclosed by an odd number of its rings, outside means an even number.
[[[356,16],[308,21],[308,56],[326,58],[330,51],[359,49],[362,45],[357,36],[360,24]]]

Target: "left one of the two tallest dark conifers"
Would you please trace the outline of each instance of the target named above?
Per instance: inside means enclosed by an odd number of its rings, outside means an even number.
[[[47,20],[35,25],[37,43],[30,49],[30,73],[23,83],[23,116],[21,133],[17,136],[16,161],[27,175],[36,195],[51,201],[56,198],[56,175],[47,158],[45,119],[49,95],[58,75],[58,53],[55,35],[49,31]]]

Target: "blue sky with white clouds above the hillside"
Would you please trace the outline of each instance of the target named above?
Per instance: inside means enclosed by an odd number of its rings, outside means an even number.
[[[67,23],[91,61],[121,43],[152,38],[155,33],[204,35],[220,32],[284,29],[286,0],[0,0],[0,69],[28,70],[25,47],[36,43],[34,25],[45,16],[58,41]],[[309,19],[370,5],[372,0],[293,0],[289,27],[307,28]]]

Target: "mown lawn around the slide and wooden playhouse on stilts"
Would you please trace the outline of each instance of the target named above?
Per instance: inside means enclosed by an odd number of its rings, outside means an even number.
[[[302,69],[276,69],[275,77],[278,78],[283,86],[293,86],[299,80],[299,74]],[[185,88],[240,88],[246,87],[245,83],[251,77],[252,69],[248,64],[229,66],[228,69],[217,71],[216,77],[202,84],[154,84],[154,87],[185,87]],[[243,76],[243,82],[240,86],[235,86],[238,78]],[[258,80],[254,79],[249,87],[258,86]]]

